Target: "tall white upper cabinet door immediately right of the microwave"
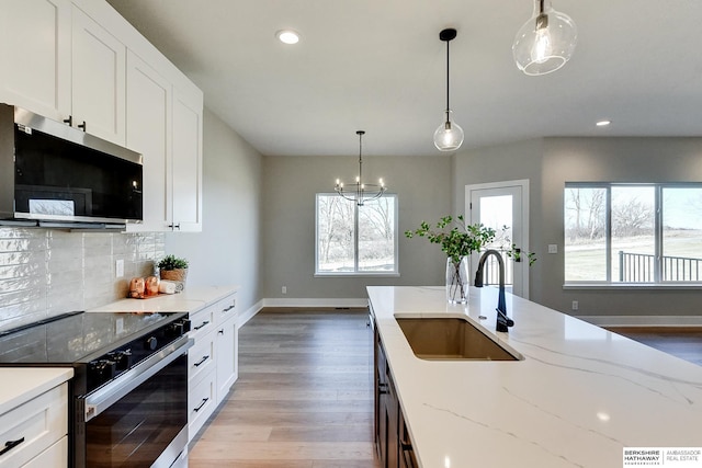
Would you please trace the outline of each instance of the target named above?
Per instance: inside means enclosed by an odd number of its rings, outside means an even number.
[[[163,231],[171,225],[171,115],[169,81],[127,53],[127,147],[144,156],[144,224],[129,231]]]

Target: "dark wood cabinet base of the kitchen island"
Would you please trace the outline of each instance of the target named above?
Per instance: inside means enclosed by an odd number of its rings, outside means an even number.
[[[383,468],[418,468],[385,349],[374,327],[375,445]]]

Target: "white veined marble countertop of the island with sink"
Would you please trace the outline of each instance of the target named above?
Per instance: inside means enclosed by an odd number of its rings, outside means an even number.
[[[467,306],[443,287],[367,292],[423,468],[622,467],[625,447],[702,447],[700,366],[510,294],[516,323],[498,333],[494,287]],[[524,361],[420,359],[396,315],[465,317]]]

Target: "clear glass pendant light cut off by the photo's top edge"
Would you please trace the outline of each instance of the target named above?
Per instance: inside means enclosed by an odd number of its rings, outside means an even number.
[[[570,16],[555,11],[550,1],[535,0],[532,18],[517,32],[512,55],[524,73],[546,75],[570,60],[577,41]]]

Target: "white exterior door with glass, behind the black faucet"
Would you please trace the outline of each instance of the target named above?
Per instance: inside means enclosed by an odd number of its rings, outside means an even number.
[[[489,184],[466,185],[466,219],[471,224],[480,222],[495,229],[498,235],[507,227],[502,237],[488,248],[502,251],[505,261],[505,283],[507,290],[517,296],[529,298],[529,261],[507,258],[506,249],[516,246],[522,252],[529,251],[529,181],[506,181]],[[477,269],[479,255],[472,259],[472,271]],[[497,283],[497,263],[488,263],[486,277],[488,283]]]

